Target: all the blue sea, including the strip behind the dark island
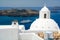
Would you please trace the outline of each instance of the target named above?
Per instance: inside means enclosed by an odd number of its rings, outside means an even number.
[[[12,7],[0,7],[0,10],[6,10],[6,9],[11,9]],[[16,8],[16,7],[15,7]],[[24,8],[17,8],[17,9],[34,9],[34,10],[40,10],[41,8],[39,7],[24,7]],[[29,29],[30,25],[34,20],[36,20],[39,16],[31,16],[31,17],[11,17],[11,16],[0,16],[0,25],[11,25],[13,20],[18,20],[20,25],[24,25],[25,29]],[[51,13],[51,19],[54,19],[59,27],[60,27],[60,13]],[[27,23],[21,23],[22,20],[30,20],[30,22]]]

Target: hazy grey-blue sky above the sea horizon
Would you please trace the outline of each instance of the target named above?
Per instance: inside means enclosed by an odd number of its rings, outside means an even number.
[[[60,0],[0,0],[0,7],[60,6]]]

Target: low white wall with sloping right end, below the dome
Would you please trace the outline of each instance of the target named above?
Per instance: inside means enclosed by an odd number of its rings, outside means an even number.
[[[35,33],[20,33],[19,39],[20,40],[44,40],[40,38],[38,35],[36,35]]]

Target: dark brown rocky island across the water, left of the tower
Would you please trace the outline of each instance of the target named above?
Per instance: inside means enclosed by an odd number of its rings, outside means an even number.
[[[0,10],[0,16],[32,16],[38,15],[37,10],[26,10],[26,9],[9,9],[9,10]]]

